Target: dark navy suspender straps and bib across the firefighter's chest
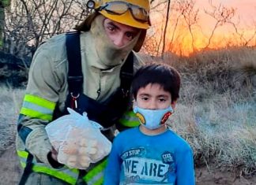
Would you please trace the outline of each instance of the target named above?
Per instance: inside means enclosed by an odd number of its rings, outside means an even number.
[[[97,102],[83,94],[83,74],[81,68],[80,32],[66,33],[66,53],[69,62],[69,95],[66,107],[77,113],[88,113],[88,118],[100,123],[104,128],[115,124],[127,109],[130,100],[130,85],[134,76],[134,54],[130,52],[120,70],[120,87],[104,102]],[[66,113],[67,114],[67,111]]]

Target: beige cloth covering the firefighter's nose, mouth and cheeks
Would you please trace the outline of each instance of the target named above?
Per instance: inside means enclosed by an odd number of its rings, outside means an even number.
[[[110,68],[122,64],[124,59],[130,54],[139,39],[140,33],[127,43],[125,46],[118,47],[108,38],[104,29],[104,20],[102,15],[97,16],[92,21],[91,33],[96,46],[96,54],[100,58],[103,65]]]

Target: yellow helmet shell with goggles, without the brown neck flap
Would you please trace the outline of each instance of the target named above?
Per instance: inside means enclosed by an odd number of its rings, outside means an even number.
[[[150,27],[149,0],[89,0],[87,6],[121,24],[141,29]]]

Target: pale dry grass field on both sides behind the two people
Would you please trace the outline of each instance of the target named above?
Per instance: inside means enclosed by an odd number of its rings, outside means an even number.
[[[190,57],[146,57],[175,66],[181,97],[170,125],[194,150],[197,166],[256,172],[256,50],[212,50]],[[24,90],[1,87],[0,150],[14,142]],[[6,126],[7,125],[7,126]],[[6,142],[3,142],[6,141]]]

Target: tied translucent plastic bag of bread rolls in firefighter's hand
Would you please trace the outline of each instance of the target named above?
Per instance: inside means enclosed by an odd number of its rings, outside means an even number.
[[[58,151],[58,162],[70,168],[86,169],[106,157],[111,142],[100,132],[102,126],[68,108],[69,115],[47,124],[51,145]]]

